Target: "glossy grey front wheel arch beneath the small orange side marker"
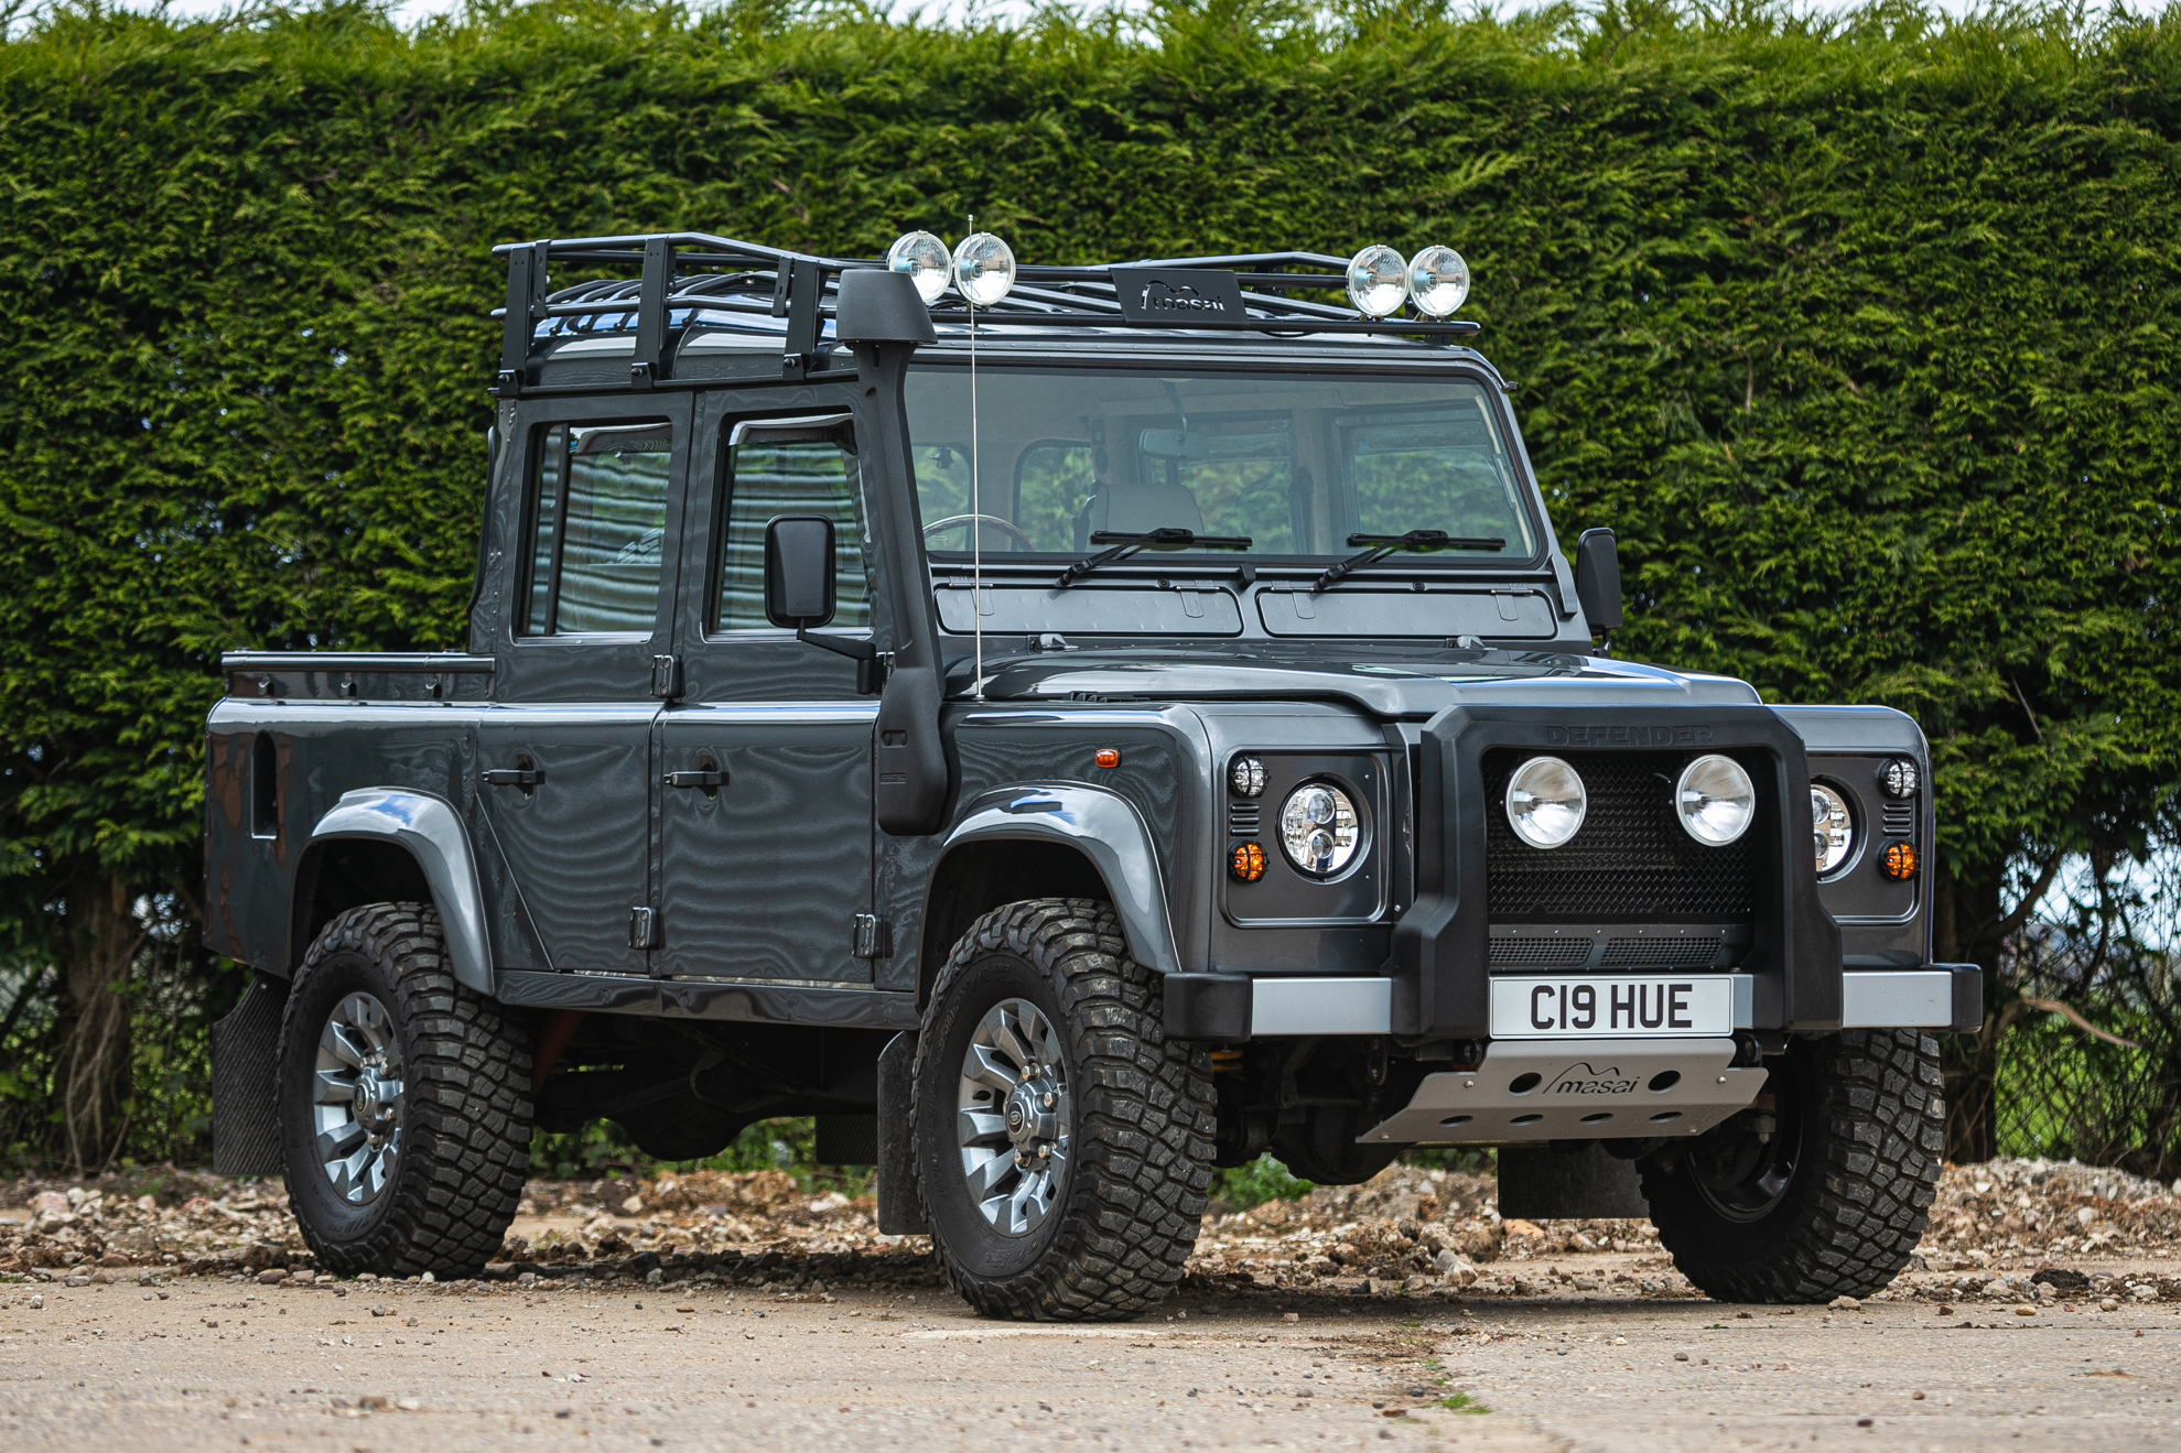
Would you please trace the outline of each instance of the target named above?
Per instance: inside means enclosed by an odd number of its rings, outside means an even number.
[[[975,798],[940,846],[918,918],[918,1012],[968,925],[1001,903],[1056,897],[1112,903],[1136,962],[1154,973],[1180,971],[1165,877],[1143,816],[1104,788],[1032,783]]]

